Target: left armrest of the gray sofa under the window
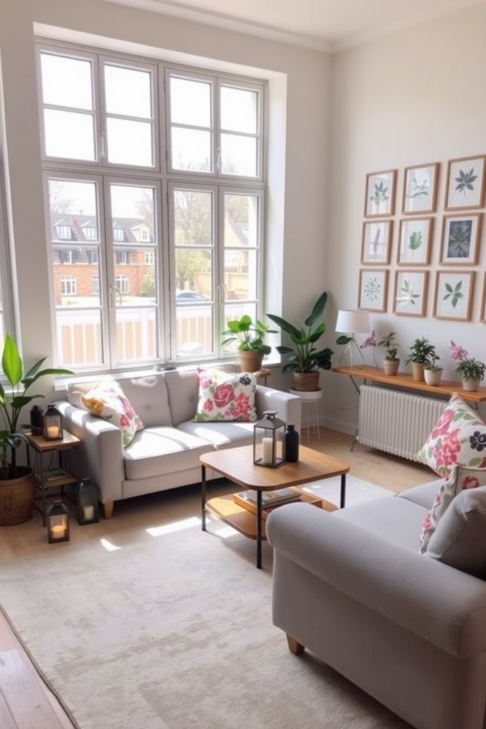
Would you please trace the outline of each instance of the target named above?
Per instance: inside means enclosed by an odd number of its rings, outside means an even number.
[[[121,499],[125,478],[121,430],[69,402],[56,402],[55,405],[63,415],[66,430],[82,441],[82,472],[79,475],[93,479],[102,504]]]

